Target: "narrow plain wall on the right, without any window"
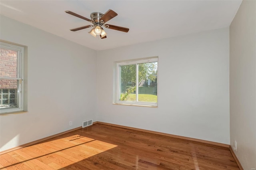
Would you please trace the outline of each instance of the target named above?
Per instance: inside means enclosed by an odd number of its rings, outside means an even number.
[[[256,168],[256,1],[243,0],[230,25],[230,144]]]

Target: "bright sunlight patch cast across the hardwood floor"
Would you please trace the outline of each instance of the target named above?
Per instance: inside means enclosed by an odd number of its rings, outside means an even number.
[[[26,166],[36,162],[54,169],[64,168],[116,146],[81,135],[57,138],[1,155],[2,159],[9,160],[1,168],[18,167],[21,164]]]

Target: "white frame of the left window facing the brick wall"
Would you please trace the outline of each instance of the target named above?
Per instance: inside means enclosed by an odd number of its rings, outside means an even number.
[[[4,113],[11,113],[11,112],[19,112],[23,111],[23,92],[22,88],[23,85],[23,76],[24,76],[24,47],[13,45],[9,43],[0,42],[0,47],[5,49],[10,49],[13,51],[17,51],[17,77],[0,77],[0,79],[12,79],[17,80],[17,99],[18,99],[18,107],[16,108],[6,108],[6,109],[0,109],[0,115]]]

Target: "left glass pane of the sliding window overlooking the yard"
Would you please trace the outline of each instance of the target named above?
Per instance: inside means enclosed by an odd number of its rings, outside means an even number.
[[[120,66],[120,101],[136,101],[136,64]]]

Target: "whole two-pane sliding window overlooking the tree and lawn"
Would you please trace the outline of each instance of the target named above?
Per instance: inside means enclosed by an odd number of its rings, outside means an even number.
[[[118,62],[116,70],[116,103],[158,105],[158,58]]]

